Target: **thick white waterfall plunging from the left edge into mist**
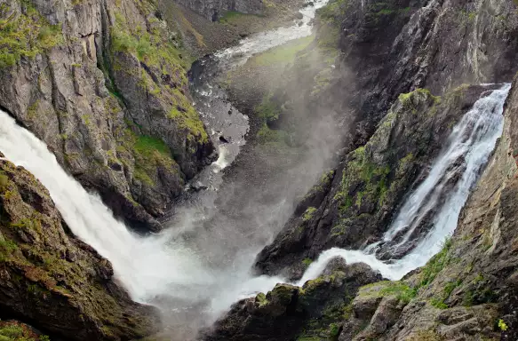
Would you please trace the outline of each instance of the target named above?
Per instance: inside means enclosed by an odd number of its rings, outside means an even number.
[[[146,301],[169,292],[187,296],[181,288],[210,282],[198,258],[181,245],[171,245],[167,234],[141,238],[132,234],[95,194],[70,177],[45,144],[0,111],[0,151],[12,163],[32,172],[49,190],[52,200],[74,234],[91,245],[114,267],[116,278],[131,297]],[[187,290],[187,289],[185,289]]]

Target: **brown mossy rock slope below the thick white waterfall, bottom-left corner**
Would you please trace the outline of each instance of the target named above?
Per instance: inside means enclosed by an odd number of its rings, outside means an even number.
[[[155,308],[132,302],[108,260],[71,235],[44,186],[5,160],[0,217],[1,318],[68,340],[127,340],[159,327]]]

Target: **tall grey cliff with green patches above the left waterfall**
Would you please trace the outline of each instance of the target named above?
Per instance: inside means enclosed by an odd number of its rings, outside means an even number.
[[[155,217],[213,147],[188,60],[155,4],[6,0],[0,107],[134,226]]]

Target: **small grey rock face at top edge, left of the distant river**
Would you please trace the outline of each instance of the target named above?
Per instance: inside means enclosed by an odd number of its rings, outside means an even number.
[[[265,7],[262,0],[177,0],[177,2],[212,21],[219,20],[226,12],[261,14]]]

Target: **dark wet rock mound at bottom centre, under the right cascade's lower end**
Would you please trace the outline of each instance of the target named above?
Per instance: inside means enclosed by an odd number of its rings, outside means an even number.
[[[302,288],[277,284],[267,295],[261,293],[238,302],[200,339],[288,341],[297,336],[336,337],[339,329],[330,321],[347,313],[347,306],[360,286],[380,278],[365,264],[331,261],[323,276],[308,281]]]

